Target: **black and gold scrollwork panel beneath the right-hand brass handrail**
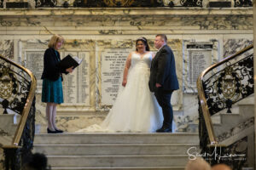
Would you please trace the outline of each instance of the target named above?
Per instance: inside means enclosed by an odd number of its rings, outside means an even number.
[[[208,72],[205,75],[208,78],[202,81],[211,116],[225,108],[231,113],[233,104],[253,94],[253,54],[244,53],[237,57],[243,59],[235,63],[226,61],[222,70]]]

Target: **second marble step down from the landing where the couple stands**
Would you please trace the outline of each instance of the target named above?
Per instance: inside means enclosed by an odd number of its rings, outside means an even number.
[[[178,155],[199,144],[34,144],[33,152],[49,156]]]

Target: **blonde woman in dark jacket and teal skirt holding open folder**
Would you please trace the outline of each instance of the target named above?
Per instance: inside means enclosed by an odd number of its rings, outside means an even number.
[[[72,67],[66,70],[58,67],[58,63],[61,61],[58,50],[63,42],[63,37],[54,35],[49,40],[49,48],[44,52],[44,71],[41,79],[43,79],[42,102],[46,103],[47,133],[63,133],[55,125],[56,107],[63,103],[62,73],[67,74],[73,71]]]

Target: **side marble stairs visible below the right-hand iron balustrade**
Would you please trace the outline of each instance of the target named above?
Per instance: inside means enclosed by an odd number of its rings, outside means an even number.
[[[241,100],[234,108],[232,113],[223,111],[217,116],[213,116],[213,130],[219,144],[232,147],[236,144],[236,150],[247,150],[247,162],[245,168],[255,166],[254,139],[254,95]]]

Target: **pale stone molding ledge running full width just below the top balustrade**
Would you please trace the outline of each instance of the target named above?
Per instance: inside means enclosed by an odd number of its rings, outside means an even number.
[[[49,16],[49,15],[253,15],[253,8],[37,8],[1,9],[0,16]]]

